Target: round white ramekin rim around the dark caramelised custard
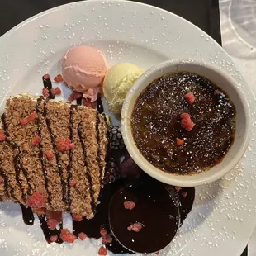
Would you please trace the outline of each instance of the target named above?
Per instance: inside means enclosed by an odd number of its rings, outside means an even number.
[[[143,92],[155,79],[168,73],[180,71],[197,73],[210,79],[211,82],[216,83],[218,87],[227,92],[236,107],[235,140],[234,144],[225,155],[225,158],[220,162],[220,164],[210,168],[208,171],[192,175],[166,173],[159,168],[154,167],[152,164],[149,164],[143,155],[140,154],[131,132],[131,114],[140,93]],[[168,60],[147,70],[135,82],[134,86],[130,88],[121,111],[121,130],[126,144],[126,149],[130,156],[135,160],[135,163],[138,164],[145,173],[148,173],[150,176],[163,183],[173,186],[195,187],[201,184],[212,183],[222,178],[239,163],[239,160],[243,157],[243,154],[249,145],[249,107],[238,83],[236,83],[235,79],[224,70],[213,64],[206,64],[199,60],[191,60],[189,62],[182,60]]]

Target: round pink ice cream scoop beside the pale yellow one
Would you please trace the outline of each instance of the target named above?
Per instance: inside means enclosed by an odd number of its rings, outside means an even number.
[[[102,83],[108,68],[102,51],[81,45],[67,51],[62,74],[69,88],[86,92]]]

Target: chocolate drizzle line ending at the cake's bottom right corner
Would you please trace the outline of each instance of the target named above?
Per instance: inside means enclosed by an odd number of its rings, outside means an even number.
[[[84,137],[83,137],[83,131],[82,131],[81,125],[82,125],[81,123],[79,123],[78,125],[78,137],[80,139],[80,143],[83,149],[83,163],[84,163],[84,167],[86,168],[86,178],[88,179],[88,182],[90,184],[89,186],[90,186],[91,207],[92,207],[92,211],[95,213],[96,203],[93,197],[95,191],[92,188],[92,176],[91,176],[90,170],[88,170],[88,162],[86,157],[86,145],[84,144],[84,141],[83,141]]]

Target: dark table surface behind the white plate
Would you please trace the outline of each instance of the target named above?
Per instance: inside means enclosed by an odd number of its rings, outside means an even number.
[[[21,21],[72,0],[0,0],[0,36]],[[186,18],[221,45],[219,0],[137,0]],[[247,248],[241,256],[247,256]],[[230,255],[232,256],[232,255]]]

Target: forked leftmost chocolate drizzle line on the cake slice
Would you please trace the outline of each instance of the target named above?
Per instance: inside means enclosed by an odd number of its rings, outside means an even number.
[[[21,192],[22,192],[22,200],[24,202],[26,202],[26,193],[24,192],[24,189],[22,187],[22,184],[21,184],[21,179],[20,179],[20,173],[22,171],[23,175],[25,176],[26,178],[26,183],[28,184],[28,194],[31,194],[31,184],[29,183],[30,181],[30,178],[28,178],[28,173],[26,171],[26,168],[23,167],[23,164],[22,164],[22,161],[21,161],[21,157],[20,157],[20,154],[21,154],[21,150],[20,150],[20,147],[13,141],[11,141],[10,139],[8,139],[9,137],[9,133],[8,133],[8,127],[7,127],[7,122],[6,122],[6,116],[5,114],[2,114],[1,116],[1,120],[2,120],[2,125],[3,125],[3,130],[4,130],[4,133],[7,137],[7,143],[9,145],[12,145],[12,149],[16,152],[16,154],[14,154],[14,158],[13,158],[13,164],[14,164],[14,168],[15,168],[15,176],[16,176],[16,181],[21,189]],[[3,172],[2,172],[3,173]],[[5,175],[6,177],[6,180],[7,180],[7,175]],[[17,197],[14,196],[14,190],[13,188],[11,189],[12,190],[12,198],[16,199],[17,200]],[[19,200],[17,200],[19,201]]]

